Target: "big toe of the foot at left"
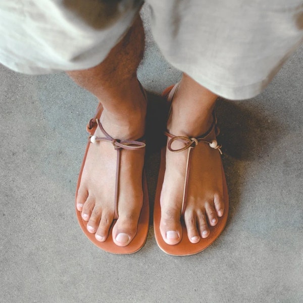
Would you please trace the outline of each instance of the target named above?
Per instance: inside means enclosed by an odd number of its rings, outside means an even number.
[[[120,215],[113,228],[113,240],[118,246],[128,245],[137,233],[139,216],[135,213]]]

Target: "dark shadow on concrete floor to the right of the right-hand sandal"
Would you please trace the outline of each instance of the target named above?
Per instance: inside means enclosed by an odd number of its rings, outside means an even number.
[[[247,105],[246,101],[219,98],[215,110],[229,191],[229,225],[239,209],[245,176],[252,173],[249,164],[267,157],[275,142],[284,135],[285,128],[281,121],[274,120],[258,107]]]

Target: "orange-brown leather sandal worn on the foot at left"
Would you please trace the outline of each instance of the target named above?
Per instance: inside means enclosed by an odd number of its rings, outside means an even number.
[[[109,231],[109,236],[104,242],[97,241],[95,238],[95,234],[92,234],[88,232],[86,226],[87,226],[87,221],[84,221],[81,217],[81,212],[77,210],[77,203],[75,205],[76,207],[76,214],[77,214],[77,219],[80,224],[80,227],[84,234],[89,238],[91,242],[93,242],[96,246],[99,248],[112,252],[113,254],[133,254],[134,252],[138,251],[142,246],[144,245],[147,234],[148,234],[148,227],[149,227],[149,205],[148,205],[148,193],[147,193],[147,183],[146,183],[146,178],[145,178],[145,172],[143,170],[142,172],[142,189],[143,189],[143,205],[141,208],[140,212],[140,217],[138,221],[138,226],[137,226],[137,233],[135,237],[132,239],[132,241],[126,245],[126,246],[118,246],[114,243],[113,237],[112,237],[112,230],[113,227],[116,223],[116,220],[119,217],[118,214],[118,199],[119,199],[119,178],[120,178],[120,166],[123,165],[120,163],[121,161],[121,153],[123,153],[123,149],[128,149],[128,150],[134,150],[138,148],[144,148],[145,143],[144,138],[140,138],[137,140],[118,140],[112,138],[103,128],[102,124],[99,121],[99,118],[101,116],[101,113],[103,111],[103,107],[101,104],[98,105],[96,114],[95,116],[90,119],[89,123],[87,124],[87,131],[89,133],[89,140],[86,146],[86,151],[84,155],[84,159],[82,162],[82,167],[80,170],[80,174],[78,177],[78,183],[77,183],[77,189],[76,189],[76,199],[78,195],[78,190],[81,182],[81,176],[86,160],[86,156],[88,153],[88,149],[91,144],[97,144],[98,141],[107,141],[111,144],[113,144],[113,148],[117,150],[117,165],[116,165],[116,185],[115,185],[115,205],[114,205],[114,221],[112,223],[112,226]],[[104,134],[104,137],[97,137],[94,135],[96,129],[99,128],[102,133]],[[105,176],[106,178],[106,176]]]

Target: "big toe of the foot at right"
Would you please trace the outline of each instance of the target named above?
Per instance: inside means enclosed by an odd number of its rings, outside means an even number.
[[[160,231],[163,240],[170,245],[180,242],[182,227],[180,223],[180,210],[164,209],[161,212]]]

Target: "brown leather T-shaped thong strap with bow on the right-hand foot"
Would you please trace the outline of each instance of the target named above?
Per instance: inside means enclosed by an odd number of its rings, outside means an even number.
[[[213,114],[213,123],[209,130],[204,133],[203,135],[190,138],[186,136],[175,136],[170,134],[169,132],[164,133],[166,136],[170,138],[167,143],[167,148],[174,153],[180,153],[181,151],[187,150],[187,162],[186,162],[186,171],[185,171],[185,181],[184,181],[184,191],[183,191],[183,200],[182,200],[182,210],[181,216],[184,216],[185,207],[186,207],[186,197],[187,197],[187,188],[188,188],[188,179],[189,179],[189,171],[190,171],[190,163],[191,163],[191,150],[198,145],[198,143],[203,142],[210,145],[210,147],[214,149],[218,149],[219,153],[222,155],[221,145],[218,145],[217,140],[215,139],[216,136],[219,134],[219,128],[217,127],[217,119],[216,116]],[[214,139],[211,139],[214,138]],[[184,147],[174,149],[172,144],[174,141],[179,141],[184,143]]]

